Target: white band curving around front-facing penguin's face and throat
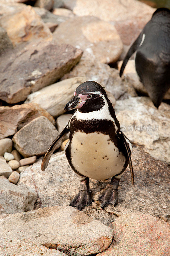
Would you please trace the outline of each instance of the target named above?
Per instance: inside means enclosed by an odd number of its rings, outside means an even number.
[[[104,100],[104,106],[100,108],[99,110],[82,113],[80,111],[76,111],[75,116],[77,120],[92,120],[92,119],[101,119],[101,120],[111,120],[115,124],[115,120],[109,113],[109,108],[107,104],[107,100],[105,99],[104,95],[101,92],[90,92],[90,94],[98,94],[100,95]],[[115,124],[115,129],[117,131],[117,126]]]

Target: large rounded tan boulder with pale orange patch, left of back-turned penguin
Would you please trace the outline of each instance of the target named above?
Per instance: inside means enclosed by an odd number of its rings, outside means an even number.
[[[102,63],[119,59],[123,44],[115,26],[96,17],[75,17],[61,23],[53,33],[58,43],[71,44]]]

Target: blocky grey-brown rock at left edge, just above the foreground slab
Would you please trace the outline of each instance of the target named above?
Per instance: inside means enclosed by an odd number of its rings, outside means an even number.
[[[0,179],[0,195],[0,214],[33,210],[36,194],[28,189]]]

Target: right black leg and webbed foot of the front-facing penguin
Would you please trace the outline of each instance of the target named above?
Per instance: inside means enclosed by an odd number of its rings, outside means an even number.
[[[114,206],[116,205],[118,199],[118,186],[119,180],[112,178],[111,183],[107,185],[105,190],[99,195],[97,199],[101,200],[101,207],[105,207],[107,204],[113,204]]]

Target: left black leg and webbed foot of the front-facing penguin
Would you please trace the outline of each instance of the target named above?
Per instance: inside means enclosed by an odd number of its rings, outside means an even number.
[[[89,188],[89,179],[81,181],[78,194],[73,198],[69,206],[76,207],[81,211],[85,205],[92,203],[92,190]]]

